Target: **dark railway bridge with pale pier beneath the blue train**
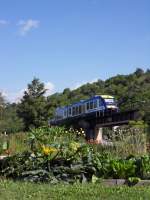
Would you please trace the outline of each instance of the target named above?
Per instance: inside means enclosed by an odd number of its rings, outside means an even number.
[[[132,109],[124,112],[95,112],[91,115],[81,115],[63,120],[51,120],[50,125],[72,126],[82,128],[88,141],[102,142],[103,127],[115,127],[129,124],[131,120],[139,119],[139,110]]]

